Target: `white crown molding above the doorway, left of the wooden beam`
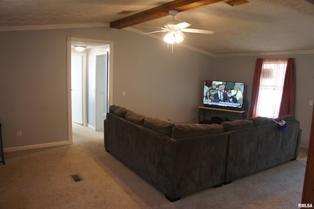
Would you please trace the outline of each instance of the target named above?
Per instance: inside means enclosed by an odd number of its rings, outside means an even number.
[[[109,27],[109,23],[86,23],[86,24],[57,24],[57,25],[33,25],[33,26],[0,26],[0,31],[15,30],[46,30],[46,29],[65,29],[79,27]]]

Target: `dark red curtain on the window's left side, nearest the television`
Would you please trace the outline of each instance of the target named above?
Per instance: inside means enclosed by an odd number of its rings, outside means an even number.
[[[257,99],[259,98],[259,90],[260,90],[260,78],[261,78],[261,73],[262,73],[262,65],[263,65],[263,59],[257,58],[256,63],[255,63],[255,72],[254,72],[254,78],[253,78],[249,117],[255,117],[255,114],[256,114]]]

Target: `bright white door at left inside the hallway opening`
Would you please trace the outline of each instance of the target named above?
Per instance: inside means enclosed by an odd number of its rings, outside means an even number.
[[[71,55],[72,122],[83,125],[83,55]]]

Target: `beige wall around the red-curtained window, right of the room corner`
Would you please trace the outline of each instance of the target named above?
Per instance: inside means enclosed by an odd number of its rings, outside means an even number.
[[[295,58],[296,71],[296,102],[295,116],[300,121],[302,129],[301,147],[308,148],[314,100],[314,54],[277,54],[277,55],[247,55],[234,57],[216,57],[215,79],[239,80],[245,82],[246,98],[251,100],[252,80],[256,58]],[[271,99],[269,100],[271,102]]]

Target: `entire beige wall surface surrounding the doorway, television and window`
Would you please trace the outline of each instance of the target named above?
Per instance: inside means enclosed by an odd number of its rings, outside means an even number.
[[[197,117],[204,79],[244,81],[250,100],[256,57],[211,57],[107,27],[0,32],[0,122],[4,148],[68,141],[67,37],[114,42],[113,104],[160,119]],[[296,117],[308,146],[314,54],[295,57]],[[126,91],[126,96],[122,92]],[[197,120],[193,121],[194,123]],[[22,131],[22,137],[17,137]]]

